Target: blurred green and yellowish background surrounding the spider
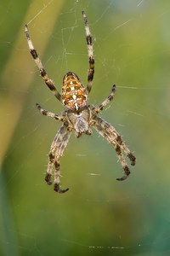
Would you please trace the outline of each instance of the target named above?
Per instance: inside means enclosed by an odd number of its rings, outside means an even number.
[[[170,4],[168,0],[3,1],[0,17],[0,255],[170,255]],[[43,84],[24,33],[61,90],[86,84],[82,9],[94,40],[90,103],[116,84],[101,116],[137,157],[125,182],[114,148],[94,131],[71,141],[58,195],[44,182],[60,124],[38,113],[63,107]]]

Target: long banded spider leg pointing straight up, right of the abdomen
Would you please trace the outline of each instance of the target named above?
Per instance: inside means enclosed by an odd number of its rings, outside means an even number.
[[[86,31],[86,40],[88,44],[88,61],[89,61],[89,68],[88,68],[88,84],[87,84],[87,91],[88,94],[92,89],[92,82],[94,79],[94,49],[92,44],[92,36],[90,34],[90,29],[88,26],[88,19],[84,11],[82,11],[82,17],[84,20],[85,31]]]

